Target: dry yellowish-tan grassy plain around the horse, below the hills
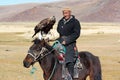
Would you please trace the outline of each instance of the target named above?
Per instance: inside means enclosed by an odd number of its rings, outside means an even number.
[[[0,80],[43,80],[38,63],[35,75],[30,74],[31,67],[23,67],[34,25],[0,24]],[[120,24],[82,23],[77,46],[79,51],[89,51],[100,58],[103,80],[120,80]]]

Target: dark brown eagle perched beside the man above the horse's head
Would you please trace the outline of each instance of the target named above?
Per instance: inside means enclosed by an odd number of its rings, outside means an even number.
[[[55,16],[51,17],[51,18],[46,18],[42,21],[40,21],[39,24],[37,24],[34,28],[34,35],[32,36],[32,38],[38,33],[40,32],[41,35],[43,35],[43,33],[47,34],[50,29],[53,28],[53,25],[55,24],[56,22],[56,18]]]

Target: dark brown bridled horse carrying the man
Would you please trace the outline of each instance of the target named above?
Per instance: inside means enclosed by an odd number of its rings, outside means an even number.
[[[23,60],[23,66],[29,68],[39,62],[43,70],[44,80],[64,80],[62,78],[62,64],[59,63],[58,52],[44,39],[34,39],[33,45],[29,48],[28,54]],[[102,80],[100,60],[88,51],[79,52],[83,69],[79,70],[79,78],[73,80]]]

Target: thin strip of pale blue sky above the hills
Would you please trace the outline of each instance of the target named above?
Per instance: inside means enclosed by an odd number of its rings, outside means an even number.
[[[46,3],[46,2],[54,2],[60,0],[0,0],[0,5],[12,5],[12,4],[21,4],[21,3]]]

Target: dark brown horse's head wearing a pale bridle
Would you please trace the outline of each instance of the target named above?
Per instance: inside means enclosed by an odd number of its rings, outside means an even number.
[[[43,53],[47,51],[47,49],[45,48],[45,40],[39,40],[38,38],[36,38],[32,42],[34,43],[29,48],[28,54],[23,61],[23,65],[26,68],[29,68],[35,62],[37,62],[38,59],[43,55]]]

